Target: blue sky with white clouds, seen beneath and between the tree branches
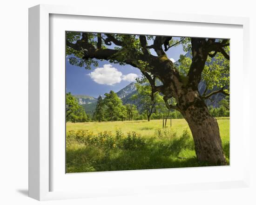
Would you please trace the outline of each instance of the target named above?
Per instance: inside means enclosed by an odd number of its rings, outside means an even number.
[[[151,43],[148,42],[148,45]],[[150,51],[156,55],[153,49]],[[175,61],[181,54],[185,54],[182,45],[172,47],[166,53],[168,58]],[[135,77],[141,77],[141,71],[131,65],[111,64],[107,60],[98,60],[99,66],[92,65],[91,70],[86,70],[69,64],[68,58],[69,56],[66,57],[66,92],[71,92],[72,95],[98,97],[110,90],[117,92],[135,82]]]

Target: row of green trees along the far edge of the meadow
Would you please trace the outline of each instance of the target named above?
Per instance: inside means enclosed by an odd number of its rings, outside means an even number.
[[[135,83],[137,93],[131,99],[137,100],[141,105],[138,109],[135,104],[123,104],[122,100],[114,91],[105,93],[104,97],[97,98],[96,108],[92,116],[86,114],[84,108],[79,104],[77,98],[71,93],[66,94],[66,121],[67,122],[104,122],[104,121],[133,121],[133,120],[155,120],[162,117],[172,119],[183,118],[177,110],[168,110],[163,97],[159,93],[150,90],[146,79],[137,79]],[[171,103],[171,102],[170,102]],[[214,117],[229,116],[229,97],[220,101],[220,107],[209,106],[209,112]]]

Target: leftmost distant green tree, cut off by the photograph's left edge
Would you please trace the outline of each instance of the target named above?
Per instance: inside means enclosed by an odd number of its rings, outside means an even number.
[[[70,92],[66,93],[66,122],[86,122],[87,120],[88,117],[78,100]]]

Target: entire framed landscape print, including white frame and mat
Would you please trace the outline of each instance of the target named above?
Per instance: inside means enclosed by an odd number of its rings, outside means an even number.
[[[248,186],[248,26],[30,8],[29,196]]]

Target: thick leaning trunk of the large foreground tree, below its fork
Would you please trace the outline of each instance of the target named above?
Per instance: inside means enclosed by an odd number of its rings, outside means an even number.
[[[184,95],[182,114],[192,132],[197,159],[211,165],[227,165],[222,149],[219,126],[198,91]]]

